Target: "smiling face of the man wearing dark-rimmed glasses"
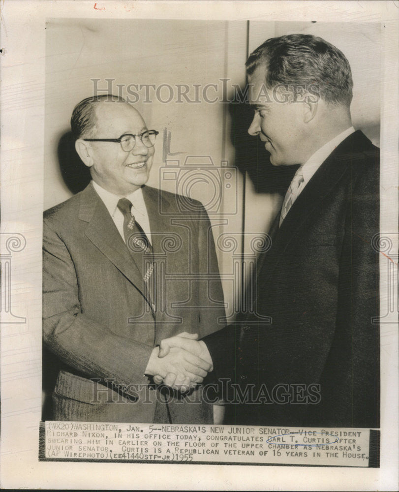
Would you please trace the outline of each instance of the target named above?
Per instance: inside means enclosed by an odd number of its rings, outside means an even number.
[[[96,105],[92,138],[119,138],[125,133],[139,135],[147,130],[140,113],[130,104],[104,101]],[[90,142],[92,179],[106,190],[126,196],[147,183],[154,148],[136,137],[136,145],[124,152],[115,142]]]

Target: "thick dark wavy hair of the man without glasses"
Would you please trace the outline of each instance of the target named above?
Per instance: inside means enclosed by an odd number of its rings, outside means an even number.
[[[287,34],[272,37],[253,51],[246,61],[251,75],[266,65],[266,87],[278,84],[314,84],[320,97],[330,104],[349,106],[352,100],[352,73],[345,55],[321,37]]]

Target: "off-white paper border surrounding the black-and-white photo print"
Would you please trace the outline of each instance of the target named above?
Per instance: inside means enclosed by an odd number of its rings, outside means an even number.
[[[381,468],[304,468],[38,462],[41,413],[41,215],[46,18],[380,22],[381,232],[398,232],[397,2],[1,1],[1,255],[12,254],[11,309],[1,310],[1,487],[52,489],[395,490],[398,484],[398,313],[381,325]],[[65,80],[65,84],[68,80]],[[62,97],[62,84],[59,92]],[[57,97],[57,94],[55,94]],[[397,246],[392,250],[396,254]],[[381,314],[387,311],[381,260]],[[396,260],[397,261],[397,260]],[[2,301],[3,298],[2,298]],[[396,309],[397,309],[396,305]]]

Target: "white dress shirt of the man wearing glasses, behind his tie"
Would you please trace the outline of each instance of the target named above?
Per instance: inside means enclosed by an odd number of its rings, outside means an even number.
[[[118,208],[118,202],[121,198],[127,198],[132,203],[132,209],[131,209],[132,215],[134,215],[136,221],[141,225],[150,243],[153,244],[151,239],[150,219],[148,216],[147,207],[144,202],[143,191],[141,188],[136,189],[136,191],[133,191],[133,193],[130,193],[125,197],[121,197],[118,195],[114,195],[114,193],[111,193],[110,191],[107,191],[102,186],[95,183],[95,181],[92,181],[92,184],[94,186],[95,191],[98,193],[99,197],[104,202],[104,205],[107,207],[107,210],[110,213],[112,220],[115,222],[115,225],[117,226],[117,229],[119,231],[119,234],[122,236],[123,241],[124,241],[124,234],[123,234],[124,216],[123,213]]]

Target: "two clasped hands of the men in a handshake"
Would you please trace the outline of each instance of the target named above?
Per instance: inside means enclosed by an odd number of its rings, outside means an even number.
[[[155,347],[145,370],[156,384],[165,384],[182,393],[195,388],[214,369],[205,342],[187,332],[164,338]]]

